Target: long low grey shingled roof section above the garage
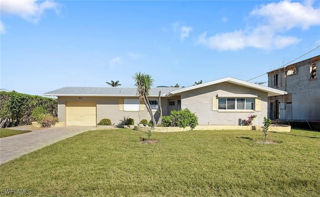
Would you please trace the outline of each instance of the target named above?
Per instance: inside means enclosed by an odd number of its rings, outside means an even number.
[[[161,96],[181,87],[151,87],[149,96]],[[44,96],[136,96],[136,87],[62,87],[43,94]]]

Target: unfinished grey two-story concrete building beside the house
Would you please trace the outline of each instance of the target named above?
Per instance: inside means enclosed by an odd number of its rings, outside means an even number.
[[[285,121],[320,121],[320,55],[268,74],[268,86],[288,92],[268,97],[268,117]]]

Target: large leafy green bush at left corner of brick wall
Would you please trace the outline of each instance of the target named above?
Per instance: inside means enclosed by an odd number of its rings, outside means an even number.
[[[190,126],[191,129],[198,125],[198,117],[188,108],[178,111],[171,111],[171,115],[162,116],[162,126],[179,126],[185,128]]]

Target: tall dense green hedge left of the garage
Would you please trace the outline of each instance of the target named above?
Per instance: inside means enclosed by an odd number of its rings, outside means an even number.
[[[0,91],[0,128],[30,124],[35,107],[42,106],[47,113],[57,115],[57,101],[53,98]]]

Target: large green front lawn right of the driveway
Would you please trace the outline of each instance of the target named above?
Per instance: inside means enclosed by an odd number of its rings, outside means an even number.
[[[39,196],[319,196],[320,132],[93,130],[0,165],[0,189]]]

